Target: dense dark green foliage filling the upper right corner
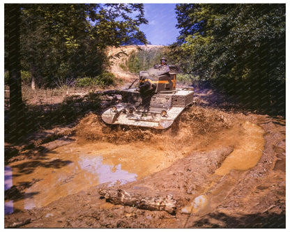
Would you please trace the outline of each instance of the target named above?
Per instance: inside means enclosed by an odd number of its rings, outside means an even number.
[[[186,73],[284,109],[285,4],[178,4],[176,13],[181,36],[171,51]]]

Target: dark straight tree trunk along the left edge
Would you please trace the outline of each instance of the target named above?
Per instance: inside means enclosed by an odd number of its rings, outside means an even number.
[[[20,5],[5,4],[8,26],[8,71],[10,88],[10,139],[17,142],[25,132],[24,105],[20,74]]]

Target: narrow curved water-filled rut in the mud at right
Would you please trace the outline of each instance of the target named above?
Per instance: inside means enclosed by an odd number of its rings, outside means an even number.
[[[215,178],[216,175],[224,176],[232,170],[248,170],[254,167],[263,153],[265,139],[264,130],[258,125],[246,121],[243,123],[245,133],[239,137],[238,144],[233,152],[224,160],[221,167],[213,174],[213,182],[204,191],[203,194],[194,198],[194,201],[182,209],[184,213],[208,212],[214,206],[220,203],[220,199],[227,196],[231,186],[234,183],[220,183],[220,178]]]

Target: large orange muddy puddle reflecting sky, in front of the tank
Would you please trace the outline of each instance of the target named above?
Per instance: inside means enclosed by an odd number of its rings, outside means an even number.
[[[28,187],[22,199],[6,201],[5,209],[10,213],[13,209],[42,207],[100,183],[127,183],[165,169],[173,161],[161,148],[152,150],[143,143],[69,144],[36,160],[14,162],[6,167],[6,190],[13,185]]]

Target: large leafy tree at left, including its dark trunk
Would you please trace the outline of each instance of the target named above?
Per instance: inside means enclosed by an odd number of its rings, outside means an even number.
[[[118,47],[132,37],[146,43],[138,27],[142,23],[147,23],[142,4],[5,4],[4,55],[10,86],[6,132],[14,141],[26,132],[21,70],[45,87],[96,77],[105,72],[107,46]]]

